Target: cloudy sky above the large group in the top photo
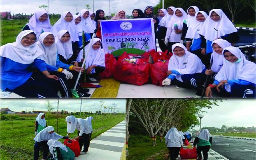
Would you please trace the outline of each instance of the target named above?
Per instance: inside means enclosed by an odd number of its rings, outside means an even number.
[[[47,5],[48,0],[1,0],[0,12],[10,11],[11,13],[30,14],[36,12],[42,4]],[[133,9],[141,9],[144,11],[146,6],[156,6],[158,0],[110,0],[110,12],[115,10],[124,10],[127,15],[132,15]],[[75,5],[77,4],[77,12],[86,9],[85,5],[89,4],[93,11],[93,0],[49,0],[49,13],[59,13],[70,11],[76,12]],[[112,8],[116,7],[116,8]],[[105,15],[109,15],[109,0],[94,0],[94,12],[102,9]]]

